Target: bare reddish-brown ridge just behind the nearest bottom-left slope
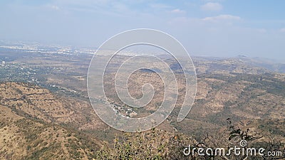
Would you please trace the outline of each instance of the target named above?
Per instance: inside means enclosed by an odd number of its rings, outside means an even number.
[[[8,106],[17,114],[41,119],[43,122],[70,124],[78,129],[105,127],[88,101],[58,97],[49,90],[19,82],[0,84],[0,105]]]

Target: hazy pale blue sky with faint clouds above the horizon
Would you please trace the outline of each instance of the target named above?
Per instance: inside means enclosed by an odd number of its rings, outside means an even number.
[[[133,28],[175,36],[192,55],[285,62],[283,0],[1,0],[0,39],[100,46]]]

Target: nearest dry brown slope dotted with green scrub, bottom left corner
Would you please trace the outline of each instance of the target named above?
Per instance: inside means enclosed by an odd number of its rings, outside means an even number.
[[[90,159],[100,142],[0,106],[0,159]]]

